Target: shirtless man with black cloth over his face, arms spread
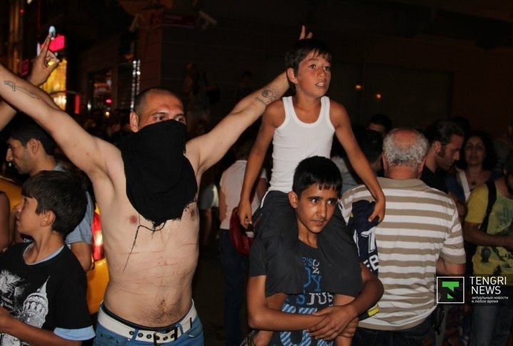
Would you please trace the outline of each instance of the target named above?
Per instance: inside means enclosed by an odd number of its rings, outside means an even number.
[[[212,131],[187,143],[180,98],[152,88],[136,99],[130,113],[135,134],[120,150],[90,136],[48,94],[0,65],[0,97],[45,128],[93,183],[110,272],[96,345],[110,345],[113,339],[203,344],[192,302],[197,186],[202,173],[287,88],[281,73],[239,101]]]

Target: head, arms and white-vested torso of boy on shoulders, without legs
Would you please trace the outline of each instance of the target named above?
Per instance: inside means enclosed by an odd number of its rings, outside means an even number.
[[[294,96],[271,103],[262,116],[257,140],[249,154],[239,203],[241,224],[252,223],[249,196],[273,143],[273,168],[269,191],[281,191],[281,200],[291,190],[294,169],[310,156],[329,158],[333,134],[348,154],[351,165],[375,197],[370,220],[383,220],[385,197],[371,166],[353,136],[346,109],[325,96],[331,81],[331,49],[318,39],[301,39],[285,56],[286,75]]]

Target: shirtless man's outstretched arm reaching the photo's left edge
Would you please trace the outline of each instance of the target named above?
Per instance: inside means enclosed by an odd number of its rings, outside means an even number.
[[[3,65],[0,65],[0,96],[39,123],[91,180],[98,175],[95,173],[107,172],[106,163],[112,159],[113,149],[108,148],[111,145],[90,136],[58,108],[47,93],[15,76]]]

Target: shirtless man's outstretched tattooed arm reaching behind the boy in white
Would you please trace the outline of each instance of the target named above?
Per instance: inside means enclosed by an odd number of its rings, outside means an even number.
[[[241,133],[264,113],[266,106],[280,98],[287,88],[285,73],[281,73],[264,88],[239,101],[212,131],[187,142],[185,155],[195,171],[201,175],[219,161]]]

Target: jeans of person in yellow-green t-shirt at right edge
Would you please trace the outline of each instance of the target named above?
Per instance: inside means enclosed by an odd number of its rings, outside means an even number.
[[[513,321],[513,289],[505,290],[509,299],[504,300],[504,305],[472,307],[470,346],[506,345]]]

